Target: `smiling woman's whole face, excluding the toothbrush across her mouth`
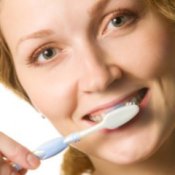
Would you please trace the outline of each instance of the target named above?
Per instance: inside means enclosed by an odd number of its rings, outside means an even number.
[[[144,1],[4,0],[0,21],[22,86],[63,135],[142,96],[137,119],[74,145],[90,157],[132,163],[171,134],[175,34]]]

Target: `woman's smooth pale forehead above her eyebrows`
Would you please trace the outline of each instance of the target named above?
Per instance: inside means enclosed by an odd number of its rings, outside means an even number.
[[[44,22],[45,19],[62,20],[73,14],[85,12],[86,9],[94,11],[97,3],[104,4],[107,0],[3,0],[0,1],[1,8],[1,25],[8,24],[16,26],[17,24],[28,24],[38,25]],[[80,3],[81,2],[81,3]],[[78,5],[77,5],[78,4]],[[5,20],[4,20],[5,19]],[[8,19],[8,21],[6,20]]]

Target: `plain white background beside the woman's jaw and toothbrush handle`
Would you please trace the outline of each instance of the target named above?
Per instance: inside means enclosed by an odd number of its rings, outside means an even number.
[[[34,150],[43,142],[60,136],[47,119],[28,103],[0,84],[0,131]],[[2,143],[0,143],[2,144]],[[59,175],[62,154],[44,160],[39,169],[27,175]]]

